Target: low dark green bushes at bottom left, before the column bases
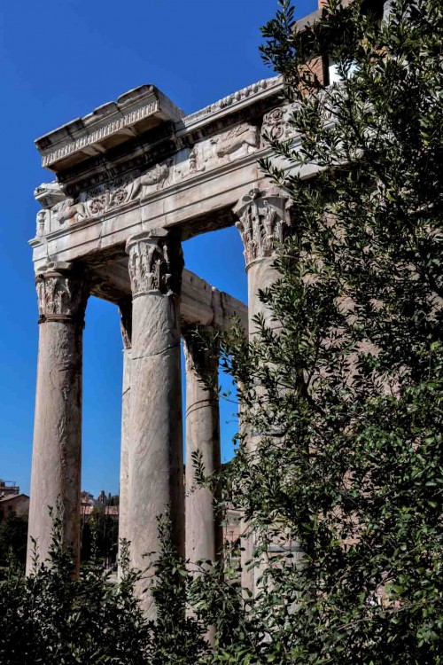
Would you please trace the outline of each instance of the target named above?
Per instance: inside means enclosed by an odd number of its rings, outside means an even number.
[[[197,622],[185,617],[187,574],[160,525],[163,554],[155,564],[158,621],[148,622],[136,600],[143,578],[129,566],[128,544],[120,547],[120,581],[105,573],[93,542],[80,579],[62,546],[62,527],[54,517],[48,561],[35,546],[32,575],[13,563],[0,583],[0,662],[2,665],[160,665],[197,661],[206,646]]]

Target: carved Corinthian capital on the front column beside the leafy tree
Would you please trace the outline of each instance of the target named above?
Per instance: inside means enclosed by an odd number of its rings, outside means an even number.
[[[245,247],[246,270],[249,265],[274,253],[290,228],[287,199],[277,190],[254,188],[234,207],[236,223]]]

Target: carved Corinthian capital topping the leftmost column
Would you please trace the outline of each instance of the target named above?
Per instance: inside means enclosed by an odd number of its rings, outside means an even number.
[[[83,323],[89,289],[81,272],[66,263],[50,263],[35,277],[39,323]]]

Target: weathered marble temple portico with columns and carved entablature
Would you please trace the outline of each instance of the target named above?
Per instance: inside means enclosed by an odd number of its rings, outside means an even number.
[[[220,551],[213,497],[196,487],[192,468],[195,453],[206,473],[220,465],[218,364],[192,331],[228,330],[237,315],[253,335],[253,317],[266,315],[258,291],[276,279],[272,256],[290,213],[258,162],[270,154],[268,137],[291,137],[282,89],[278,77],[260,81],[185,115],[145,85],[35,142],[56,176],[35,190],[43,208],[30,241],[40,341],[29,533],[43,559],[48,505],[60,506],[64,539],[79,557],[89,295],[120,308],[120,537],[131,542],[132,563],[144,568],[144,554],[158,552],[159,514],[170,518],[177,551],[190,562]],[[232,225],[245,247],[247,306],[183,268],[183,240]],[[214,260],[223,261],[223,247]],[[153,616],[149,591],[143,603]]]

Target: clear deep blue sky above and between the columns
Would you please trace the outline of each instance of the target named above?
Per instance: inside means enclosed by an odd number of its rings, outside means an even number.
[[[300,0],[299,16],[316,0]],[[153,83],[191,113],[273,75],[260,60],[260,26],[275,0],[21,0],[0,9],[0,478],[28,493],[37,354],[31,249],[43,171],[35,137]],[[184,244],[187,268],[246,300],[235,229]],[[82,488],[118,491],[121,340],[112,305],[90,299],[84,338]],[[221,405],[222,455],[237,423]]]

